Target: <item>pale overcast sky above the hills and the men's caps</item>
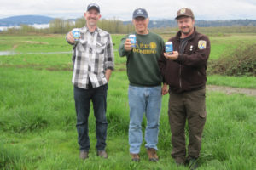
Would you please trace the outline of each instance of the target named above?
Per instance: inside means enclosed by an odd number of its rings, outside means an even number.
[[[149,19],[174,19],[179,8],[191,8],[195,20],[256,20],[256,0],[0,0],[0,19],[37,14],[75,19],[89,3],[100,5],[102,18],[131,20],[136,8],[145,8]]]

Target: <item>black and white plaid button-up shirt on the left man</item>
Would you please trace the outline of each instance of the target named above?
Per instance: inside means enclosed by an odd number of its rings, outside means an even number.
[[[73,85],[79,88],[93,88],[108,83],[107,69],[113,70],[113,43],[110,34],[100,28],[90,32],[80,29],[79,42],[73,47]]]

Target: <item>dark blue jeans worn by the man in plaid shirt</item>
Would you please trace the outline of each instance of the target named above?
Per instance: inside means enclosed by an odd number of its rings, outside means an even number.
[[[89,89],[73,88],[75,107],[77,112],[77,131],[79,134],[80,150],[90,149],[88,136],[88,116],[90,113],[90,100],[93,103],[94,116],[96,117],[96,150],[105,150],[108,122],[106,118],[108,84],[98,88]]]

